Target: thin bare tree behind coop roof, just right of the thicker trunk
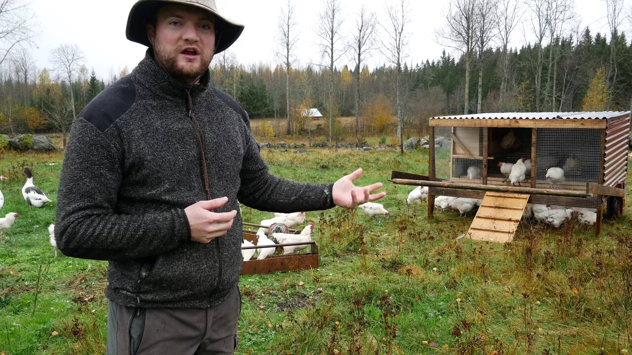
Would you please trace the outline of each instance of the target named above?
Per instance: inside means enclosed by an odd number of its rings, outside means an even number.
[[[476,45],[478,49],[478,100],[477,113],[480,114],[480,106],[483,100],[483,61],[485,49],[496,35],[494,26],[494,11],[498,6],[497,0],[477,0],[475,9],[476,19]]]

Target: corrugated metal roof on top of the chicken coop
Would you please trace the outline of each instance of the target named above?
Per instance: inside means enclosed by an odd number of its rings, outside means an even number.
[[[436,116],[430,119],[609,119],[629,116],[630,111],[601,112],[500,112]]]

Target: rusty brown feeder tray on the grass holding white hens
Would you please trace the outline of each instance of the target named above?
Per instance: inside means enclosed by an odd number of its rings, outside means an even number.
[[[300,231],[295,231],[294,234],[300,234]],[[243,230],[243,239],[252,242],[257,245],[257,233],[253,231]],[[283,251],[283,246],[303,245],[305,243],[285,243],[277,244],[277,250]],[[298,253],[289,255],[270,255],[264,260],[248,260],[243,262],[241,268],[241,275],[252,274],[270,274],[271,272],[278,271],[297,271],[297,270],[310,270],[319,267],[318,246],[315,241],[312,241],[311,250],[309,253]],[[252,246],[246,246],[244,249],[252,249]]]

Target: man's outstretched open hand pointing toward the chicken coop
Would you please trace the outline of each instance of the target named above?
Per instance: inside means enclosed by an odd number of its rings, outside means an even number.
[[[382,183],[362,187],[355,186],[353,181],[360,178],[360,175],[362,175],[362,168],[351,172],[349,175],[343,176],[334,183],[332,197],[334,198],[336,206],[356,208],[358,205],[362,205],[362,203],[379,200],[386,196],[386,192],[384,191],[371,195],[373,191],[382,187]]]

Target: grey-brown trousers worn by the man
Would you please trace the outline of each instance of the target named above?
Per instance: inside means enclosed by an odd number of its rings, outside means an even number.
[[[237,287],[213,308],[134,308],[109,301],[107,355],[232,355],[240,311]]]

